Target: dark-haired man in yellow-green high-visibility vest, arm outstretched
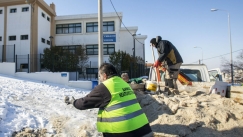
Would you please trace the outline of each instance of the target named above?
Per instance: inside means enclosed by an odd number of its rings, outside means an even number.
[[[97,129],[104,137],[152,137],[148,119],[132,88],[117,76],[115,67],[103,63],[97,85],[87,96],[65,103],[80,110],[99,108]]]

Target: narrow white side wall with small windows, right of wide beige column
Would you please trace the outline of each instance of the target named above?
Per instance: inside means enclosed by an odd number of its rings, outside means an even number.
[[[42,16],[42,13],[45,14],[45,17]],[[47,20],[49,17],[49,21]],[[40,7],[38,7],[38,54],[43,53],[45,48],[50,48],[50,45],[47,44],[47,40],[50,41],[51,36],[51,17]],[[45,39],[45,43],[42,42],[42,38]]]

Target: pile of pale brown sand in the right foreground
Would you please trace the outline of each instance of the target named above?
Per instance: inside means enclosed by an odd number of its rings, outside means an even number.
[[[205,91],[183,91],[180,95],[143,95],[138,100],[155,136],[243,135],[243,105]]]

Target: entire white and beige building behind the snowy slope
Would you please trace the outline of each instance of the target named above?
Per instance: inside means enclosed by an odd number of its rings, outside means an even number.
[[[104,62],[118,50],[145,59],[147,36],[136,34],[138,27],[121,27],[122,16],[120,12],[103,13]],[[2,62],[29,55],[30,72],[38,71],[38,56],[50,46],[73,50],[82,45],[89,56],[89,67],[98,68],[98,14],[56,16],[55,5],[43,0],[1,0],[0,45]],[[23,64],[26,61],[18,60],[16,68]]]

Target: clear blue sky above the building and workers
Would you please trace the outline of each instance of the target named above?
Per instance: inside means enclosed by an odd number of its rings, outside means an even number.
[[[98,13],[98,0],[44,1],[56,5],[57,16]],[[149,45],[156,36],[172,42],[184,64],[199,63],[203,58],[208,69],[221,68],[222,58],[230,61],[231,47],[233,61],[243,51],[242,0],[103,0],[102,3],[103,13],[122,12],[126,27],[137,26],[137,34],[147,35],[145,61],[154,62]],[[220,10],[211,12],[212,8]]]

